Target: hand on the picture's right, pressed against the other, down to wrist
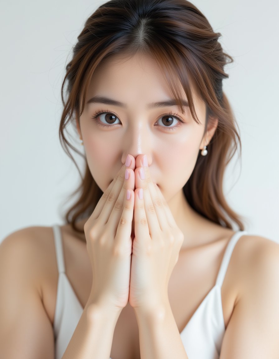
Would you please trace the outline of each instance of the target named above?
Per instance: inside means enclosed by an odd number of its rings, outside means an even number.
[[[129,304],[134,309],[149,311],[168,303],[169,279],[178,261],[184,235],[176,225],[159,187],[151,180],[149,168],[142,165],[143,156],[139,157],[134,171],[135,237]],[[141,193],[142,199],[139,197]]]

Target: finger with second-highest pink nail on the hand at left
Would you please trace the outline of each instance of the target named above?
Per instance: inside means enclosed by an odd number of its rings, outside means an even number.
[[[120,217],[122,215],[123,207],[127,200],[127,190],[134,189],[134,171],[132,169],[126,169],[125,171],[125,180],[121,191],[119,193],[118,199],[114,204],[113,209],[110,212],[109,219],[107,221],[110,228],[112,228],[113,232],[117,230]],[[133,219],[133,218],[132,218]],[[131,222],[132,226],[132,222]]]

